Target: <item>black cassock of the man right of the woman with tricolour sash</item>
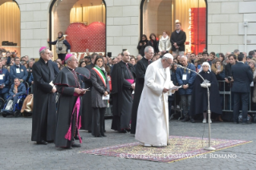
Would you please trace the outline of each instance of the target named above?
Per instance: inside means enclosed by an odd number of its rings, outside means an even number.
[[[112,70],[112,129],[121,131],[130,129],[132,115],[132,83],[127,79],[135,79],[135,69],[132,64],[123,61],[116,63]]]

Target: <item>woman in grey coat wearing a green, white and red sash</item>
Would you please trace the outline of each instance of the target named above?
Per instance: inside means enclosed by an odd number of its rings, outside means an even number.
[[[104,135],[104,115],[108,100],[102,99],[103,95],[109,94],[109,83],[107,73],[104,68],[104,59],[98,55],[94,63],[95,67],[91,69],[91,107],[92,112],[92,129],[91,135],[102,137]]]

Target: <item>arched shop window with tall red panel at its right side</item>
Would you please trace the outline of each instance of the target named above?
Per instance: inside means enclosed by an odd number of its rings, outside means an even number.
[[[185,52],[198,53],[207,47],[207,6],[205,0],[142,0],[140,5],[140,34],[163,30],[169,35],[175,22],[181,22],[186,33]]]

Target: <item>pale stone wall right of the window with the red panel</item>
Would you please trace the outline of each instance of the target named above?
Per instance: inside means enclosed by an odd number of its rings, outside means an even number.
[[[208,51],[249,51],[256,47],[256,2],[243,0],[208,0]],[[250,13],[250,14],[248,14]],[[245,49],[243,21],[247,26]]]

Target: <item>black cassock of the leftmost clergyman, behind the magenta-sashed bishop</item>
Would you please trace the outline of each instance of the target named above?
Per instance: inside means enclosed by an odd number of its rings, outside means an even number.
[[[56,105],[55,94],[49,84],[55,79],[51,63],[42,58],[33,65],[34,107],[32,115],[32,141],[50,141],[55,139]]]

